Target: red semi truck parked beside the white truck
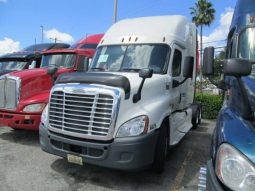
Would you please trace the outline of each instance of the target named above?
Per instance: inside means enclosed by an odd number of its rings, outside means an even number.
[[[63,73],[86,71],[102,36],[88,36],[69,49],[45,51],[40,68],[1,76],[0,126],[38,130],[55,79]]]

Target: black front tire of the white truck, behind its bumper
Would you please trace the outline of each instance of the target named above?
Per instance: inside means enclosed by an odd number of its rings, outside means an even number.
[[[164,171],[167,151],[168,151],[167,127],[163,123],[159,128],[159,135],[155,148],[154,161],[152,164],[152,170],[154,172],[162,173]]]

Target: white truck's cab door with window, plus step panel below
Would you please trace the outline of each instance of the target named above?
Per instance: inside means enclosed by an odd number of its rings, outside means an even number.
[[[169,74],[172,78],[172,87],[170,88],[171,95],[175,96],[172,104],[172,114],[170,116],[170,145],[177,144],[185,133],[190,129],[190,121],[187,114],[187,97],[188,83],[190,80],[183,80],[184,60],[186,57],[186,49],[179,45],[172,47],[170,59]]]

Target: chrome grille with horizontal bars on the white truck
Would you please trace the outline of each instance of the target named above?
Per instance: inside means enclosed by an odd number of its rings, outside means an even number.
[[[75,135],[105,137],[114,119],[114,96],[102,92],[70,93],[52,91],[50,127]],[[65,133],[66,134],[66,133]]]

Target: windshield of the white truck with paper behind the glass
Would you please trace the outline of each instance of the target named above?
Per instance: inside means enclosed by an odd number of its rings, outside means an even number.
[[[155,44],[102,46],[97,49],[91,69],[118,72],[151,68],[154,73],[163,73],[169,49]]]

